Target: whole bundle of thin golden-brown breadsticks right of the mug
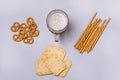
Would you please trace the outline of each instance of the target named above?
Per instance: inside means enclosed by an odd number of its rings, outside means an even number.
[[[97,13],[95,12],[89,21],[87,28],[84,30],[74,47],[80,51],[80,53],[93,50],[100,36],[105,30],[106,26],[110,22],[111,18],[102,20],[101,18],[95,18]]]

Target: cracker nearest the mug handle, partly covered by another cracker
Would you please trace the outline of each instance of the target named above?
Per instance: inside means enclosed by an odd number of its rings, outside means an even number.
[[[49,45],[48,48],[44,51],[46,56],[51,56],[52,54],[57,55],[61,60],[64,59],[66,51],[63,48],[55,46],[53,44]]]

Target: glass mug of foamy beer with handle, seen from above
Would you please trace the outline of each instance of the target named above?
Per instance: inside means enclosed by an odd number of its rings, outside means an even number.
[[[46,22],[49,31],[55,34],[55,42],[58,42],[60,34],[68,28],[69,19],[67,14],[60,9],[52,10],[48,14]]]

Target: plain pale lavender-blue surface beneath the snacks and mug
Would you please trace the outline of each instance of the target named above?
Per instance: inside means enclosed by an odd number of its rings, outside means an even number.
[[[0,0],[0,80],[120,80],[120,0]],[[46,27],[53,9],[64,10],[70,19],[60,43]],[[81,55],[74,44],[94,12],[112,20],[90,54]],[[32,45],[12,40],[13,22],[33,17],[41,33]],[[72,67],[65,78],[37,76],[34,62],[55,43],[66,49]]]

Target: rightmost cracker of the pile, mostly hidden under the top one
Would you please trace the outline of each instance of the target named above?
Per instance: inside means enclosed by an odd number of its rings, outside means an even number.
[[[63,72],[61,72],[59,74],[60,77],[65,77],[66,74],[68,73],[68,71],[70,70],[71,66],[72,66],[72,62],[70,60],[66,59],[66,58],[64,59],[64,63],[66,65],[66,68]]]

